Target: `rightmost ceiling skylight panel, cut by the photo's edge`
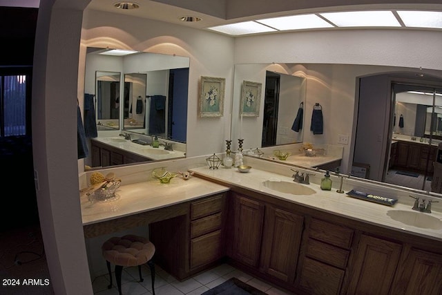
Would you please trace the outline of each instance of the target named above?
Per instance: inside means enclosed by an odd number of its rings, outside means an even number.
[[[401,11],[398,15],[407,27],[442,28],[442,12],[440,11]]]

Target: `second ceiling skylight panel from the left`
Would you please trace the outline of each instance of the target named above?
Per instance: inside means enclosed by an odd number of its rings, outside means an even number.
[[[302,30],[333,27],[331,23],[328,23],[317,15],[291,15],[289,17],[259,19],[257,21],[272,28],[276,28],[277,30]]]

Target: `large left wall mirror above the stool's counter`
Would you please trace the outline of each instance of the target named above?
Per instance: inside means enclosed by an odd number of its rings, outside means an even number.
[[[108,48],[88,48],[85,94],[95,97],[98,131],[90,145],[101,141],[128,156],[105,165],[90,155],[85,163],[95,167],[185,157],[189,61],[176,55],[114,55]],[[127,134],[131,136],[119,136]],[[146,148],[153,137],[160,140],[160,149]],[[99,153],[92,154],[99,158]]]

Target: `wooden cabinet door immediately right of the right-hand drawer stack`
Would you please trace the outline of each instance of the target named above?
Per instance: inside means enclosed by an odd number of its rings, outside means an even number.
[[[387,294],[401,249],[396,242],[362,235],[350,273],[348,294]]]

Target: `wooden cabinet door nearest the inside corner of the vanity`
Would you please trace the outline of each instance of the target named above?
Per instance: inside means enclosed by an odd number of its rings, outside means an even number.
[[[233,258],[258,267],[261,250],[264,204],[234,195],[233,200]]]

